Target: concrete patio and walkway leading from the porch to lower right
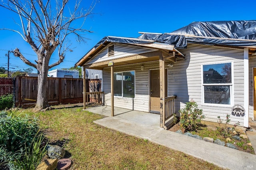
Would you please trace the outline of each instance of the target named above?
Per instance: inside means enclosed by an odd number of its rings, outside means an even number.
[[[249,170],[256,167],[256,156],[253,154],[160,128],[160,115],[114,108],[116,116],[110,117],[111,108],[107,106],[92,107],[86,110],[107,116],[94,121],[100,126],[148,139],[150,142],[184,152],[222,168]],[[200,167],[200,169],[204,168]]]

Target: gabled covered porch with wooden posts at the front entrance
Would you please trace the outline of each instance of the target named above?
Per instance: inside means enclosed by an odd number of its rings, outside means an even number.
[[[129,117],[140,123],[146,120],[137,118],[136,112],[151,112],[156,115],[158,126],[160,124],[161,128],[168,129],[174,119],[176,99],[175,95],[168,94],[168,83],[171,83],[168,82],[168,64],[184,59],[184,55],[173,45],[137,39],[127,43],[131,41],[128,38],[122,38],[127,41],[120,43],[120,39],[115,37],[111,42],[106,40],[89,51],[76,65],[84,67],[84,75],[86,68],[103,70],[102,101],[103,105],[109,106],[105,108],[110,109],[108,116],[124,117],[114,108],[126,108],[130,109]],[[84,98],[86,95],[84,91]]]

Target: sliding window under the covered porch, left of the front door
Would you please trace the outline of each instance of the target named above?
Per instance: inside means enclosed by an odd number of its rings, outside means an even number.
[[[134,98],[135,72],[114,73],[114,95]]]

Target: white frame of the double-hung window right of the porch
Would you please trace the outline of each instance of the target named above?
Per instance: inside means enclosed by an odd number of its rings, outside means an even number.
[[[225,64],[231,63],[231,83],[204,83],[204,65],[213,64]],[[218,104],[218,103],[204,103],[204,86],[229,86],[230,87],[230,104]],[[230,107],[234,105],[234,62],[233,61],[221,61],[221,62],[210,62],[201,64],[201,88],[202,88],[202,105],[204,106],[220,106]]]

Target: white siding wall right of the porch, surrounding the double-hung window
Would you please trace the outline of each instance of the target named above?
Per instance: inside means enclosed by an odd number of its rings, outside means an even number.
[[[184,108],[186,102],[193,99],[198,108],[203,109],[206,121],[217,121],[217,117],[226,119],[230,115],[231,123],[240,122],[243,126],[244,118],[231,114],[232,106],[216,107],[202,105],[202,64],[230,61],[234,63],[234,105],[244,105],[244,67],[243,50],[206,45],[188,45],[187,49],[180,50],[185,54],[185,60],[179,60],[168,71],[169,95],[177,95],[175,111]]]

